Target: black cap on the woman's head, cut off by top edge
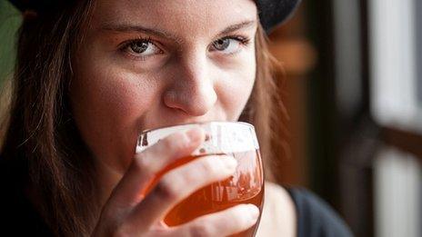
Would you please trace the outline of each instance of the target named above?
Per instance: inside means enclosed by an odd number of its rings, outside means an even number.
[[[292,15],[301,0],[256,0],[261,24],[266,33],[269,33],[276,25],[280,25]],[[21,12],[34,10],[43,12],[60,1],[57,0],[9,0]]]

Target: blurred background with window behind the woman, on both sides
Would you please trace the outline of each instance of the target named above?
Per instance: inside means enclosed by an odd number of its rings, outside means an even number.
[[[419,0],[303,0],[269,35],[290,116],[278,182],[320,195],[356,236],[422,236],[420,12]],[[0,87],[20,21],[0,0]]]

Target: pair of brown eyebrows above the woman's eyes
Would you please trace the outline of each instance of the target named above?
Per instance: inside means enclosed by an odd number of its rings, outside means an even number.
[[[230,34],[236,30],[248,28],[253,25],[256,25],[255,20],[250,21],[244,21],[241,23],[237,23],[235,25],[229,25],[227,26],[223,31],[221,31],[218,35],[227,35]],[[174,35],[172,33],[166,32],[165,30],[156,29],[156,28],[148,28],[144,27],[142,25],[131,25],[131,24],[106,24],[101,26],[100,28],[102,31],[111,31],[111,32],[140,32],[147,35],[156,35],[159,37],[167,38],[174,40],[176,42],[182,42],[183,40],[178,37],[177,35]]]

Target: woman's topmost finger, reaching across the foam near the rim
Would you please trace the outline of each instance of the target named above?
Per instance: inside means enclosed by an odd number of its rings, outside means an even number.
[[[137,153],[127,172],[116,186],[112,198],[120,204],[137,204],[145,194],[146,187],[167,165],[188,156],[205,139],[200,127],[186,132],[173,133],[142,153]]]

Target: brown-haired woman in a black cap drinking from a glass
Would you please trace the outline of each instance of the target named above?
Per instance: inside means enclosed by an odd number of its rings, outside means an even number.
[[[17,44],[2,148],[9,217],[3,230],[225,236],[256,223],[256,206],[238,205],[175,228],[160,225],[177,201],[233,173],[234,161],[197,159],[139,197],[155,173],[194,151],[204,132],[175,133],[135,154],[136,136],[146,128],[241,118],[256,125],[264,157],[271,157],[269,124],[279,122],[270,112],[280,108],[272,103],[265,29],[298,1],[14,2],[35,11],[25,12]],[[193,173],[197,178],[186,183]],[[306,203],[317,210],[310,216],[327,221],[303,224]],[[268,184],[264,209],[258,236],[349,234],[324,204],[299,190]]]

